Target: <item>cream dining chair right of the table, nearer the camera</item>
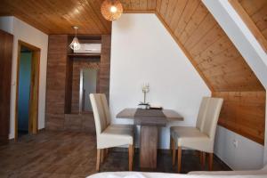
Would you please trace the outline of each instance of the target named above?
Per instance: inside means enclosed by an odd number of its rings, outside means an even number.
[[[174,144],[177,146],[178,173],[181,172],[182,148],[199,150],[209,154],[209,170],[213,167],[214,136],[220,111],[222,109],[222,98],[210,98],[206,107],[206,116],[204,118],[203,129],[194,130],[176,130]]]

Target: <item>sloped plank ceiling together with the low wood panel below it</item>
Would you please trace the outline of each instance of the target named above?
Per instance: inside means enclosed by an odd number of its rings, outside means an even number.
[[[223,97],[219,124],[263,144],[263,85],[206,6],[200,0],[158,0],[156,14],[213,95]]]

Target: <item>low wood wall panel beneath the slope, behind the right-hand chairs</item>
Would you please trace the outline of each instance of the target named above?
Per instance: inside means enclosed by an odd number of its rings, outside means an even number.
[[[219,124],[247,138],[264,144],[265,100],[261,92],[214,92],[222,97],[223,109]]]

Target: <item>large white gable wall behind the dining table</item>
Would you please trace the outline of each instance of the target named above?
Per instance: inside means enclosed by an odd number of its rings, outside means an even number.
[[[113,123],[121,109],[136,108],[142,101],[142,83],[150,83],[148,101],[179,112],[195,125],[203,96],[211,93],[155,14],[123,14],[112,23],[110,110]],[[161,149],[169,147],[169,125],[162,128]]]

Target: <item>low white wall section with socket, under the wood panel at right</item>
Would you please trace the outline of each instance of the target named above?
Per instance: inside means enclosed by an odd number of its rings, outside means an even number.
[[[217,127],[214,153],[233,170],[263,167],[263,145],[233,133],[223,126]]]

